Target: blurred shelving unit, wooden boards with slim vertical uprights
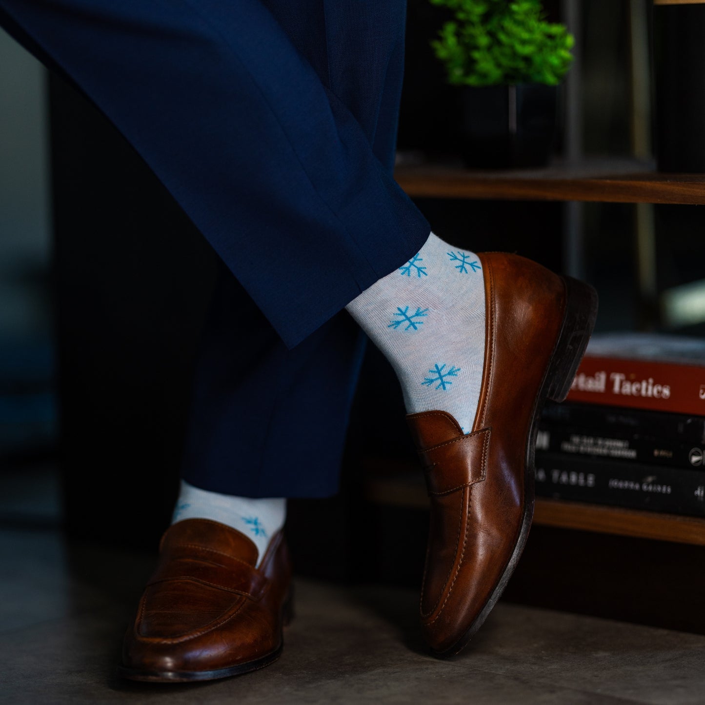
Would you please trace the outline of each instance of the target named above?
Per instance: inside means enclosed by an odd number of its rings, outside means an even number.
[[[580,28],[580,0],[563,0],[568,27]],[[486,171],[459,164],[401,163],[396,180],[413,198],[565,203],[565,271],[582,276],[582,203],[635,204],[635,259],[639,297],[646,311],[656,303],[656,254],[653,204],[705,204],[705,174],[659,173],[649,159],[651,145],[648,28],[643,0],[630,0],[630,75],[632,158],[591,159],[582,152],[581,64],[568,74],[573,109],[565,118],[565,162],[546,168]],[[668,292],[666,292],[666,302]],[[663,304],[663,302],[662,302]],[[668,318],[668,311],[663,312]],[[410,463],[367,458],[367,498],[379,505],[426,508],[419,468]],[[705,546],[705,519],[538,498],[534,523],[615,536],[639,537]]]

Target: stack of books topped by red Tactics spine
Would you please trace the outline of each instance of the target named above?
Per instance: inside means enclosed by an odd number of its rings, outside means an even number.
[[[538,496],[705,516],[705,341],[594,336],[536,447]]]

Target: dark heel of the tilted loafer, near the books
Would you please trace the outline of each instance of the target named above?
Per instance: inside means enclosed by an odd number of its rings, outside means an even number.
[[[546,375],[546,396],[553,401],[563,401],[568,396],[597,317],[597,292],[594,288],[570,276],[564,276],[563,281],[566,293],[563,328]]]

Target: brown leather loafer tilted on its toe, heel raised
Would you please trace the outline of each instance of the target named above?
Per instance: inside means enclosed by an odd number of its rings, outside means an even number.
[[[437,656],[470,641],[519,560],[534,513],[541,408],[568,395],[597,312],[587,284],[516,255],[479,259],[486,343],[472,432],[441,411],[407,417],[431,497],[421,621]]]

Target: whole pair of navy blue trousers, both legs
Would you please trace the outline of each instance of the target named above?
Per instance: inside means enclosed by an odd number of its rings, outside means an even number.
[[[405,0],[0,0],[223,261],[192,484],[336,491],[363,348],[341,309],[430,229],[391,175],[404,20]]]

